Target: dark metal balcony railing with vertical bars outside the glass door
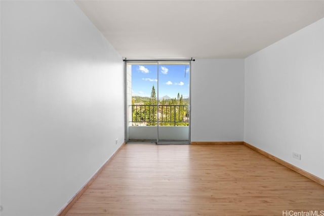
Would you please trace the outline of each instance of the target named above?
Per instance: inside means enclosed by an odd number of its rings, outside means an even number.
[[[132,125],[188,126],[188,105],[130,105]],[[157,120],[158,119],[158,120]]]

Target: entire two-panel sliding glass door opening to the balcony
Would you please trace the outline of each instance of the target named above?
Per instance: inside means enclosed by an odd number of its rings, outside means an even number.
[[[127,62],[128,143],[189,144],[190,62]]]

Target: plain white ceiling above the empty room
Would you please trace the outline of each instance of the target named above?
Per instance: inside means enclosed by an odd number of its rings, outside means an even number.
[[[245,58],[324,17],[324,1],[75,1],[127,58]]]

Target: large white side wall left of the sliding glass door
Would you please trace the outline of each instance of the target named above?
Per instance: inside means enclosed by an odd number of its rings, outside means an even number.
[[[1,1],[3,216],[54,215],[92,177],[124,141],[123,85],[74,2]]]

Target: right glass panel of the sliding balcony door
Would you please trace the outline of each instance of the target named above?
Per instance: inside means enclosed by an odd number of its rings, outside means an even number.
[[[189,143],[189,62],[158,64],[158,144]]]

